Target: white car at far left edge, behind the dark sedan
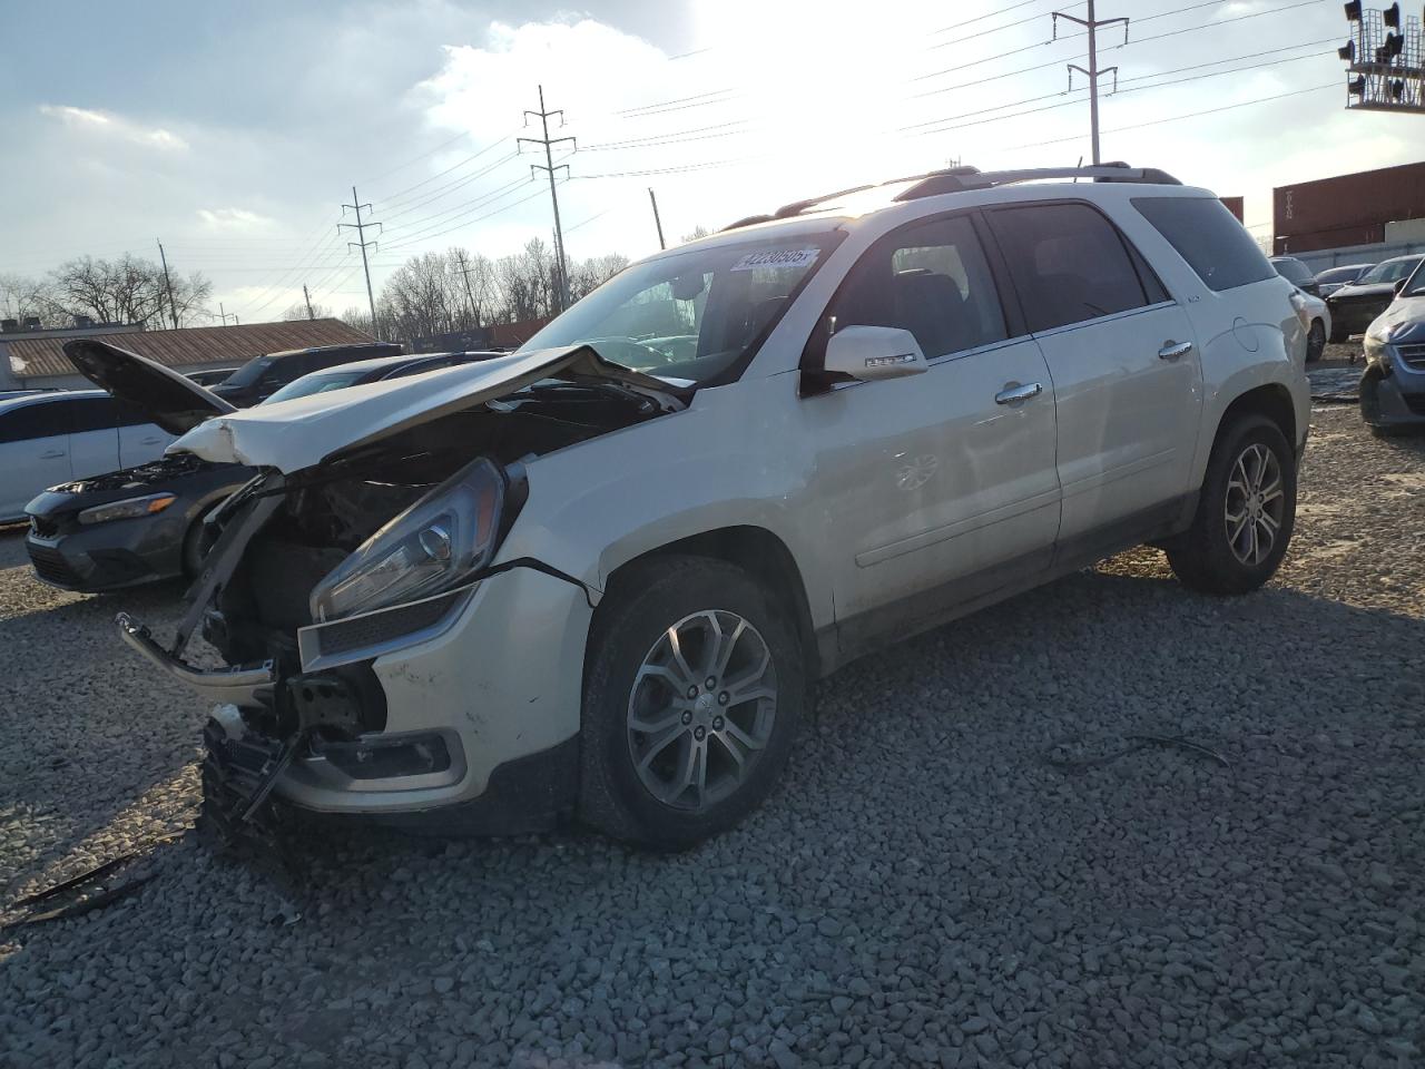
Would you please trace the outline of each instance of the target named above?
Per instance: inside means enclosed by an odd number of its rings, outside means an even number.
[[[24,519],[50,486],[157,460],[172,440],[101,391],[0,399],[0,523]]]

